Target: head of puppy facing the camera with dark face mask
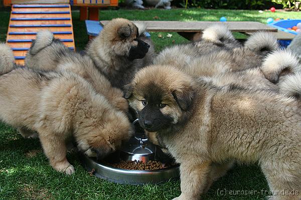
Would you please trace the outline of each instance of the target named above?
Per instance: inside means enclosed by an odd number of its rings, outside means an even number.
[[[171,66],[153,65],[141,69],[125,86],[128,99],[142,128],[149,132],[182,123],[191,110],[194,81]]]

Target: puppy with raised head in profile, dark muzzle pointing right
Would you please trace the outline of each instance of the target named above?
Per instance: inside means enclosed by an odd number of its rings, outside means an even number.
[[[153,60],[154,47],[144,31],[126,19],[113,19],[87,46],[87,54],[114,87],[122,89]]]

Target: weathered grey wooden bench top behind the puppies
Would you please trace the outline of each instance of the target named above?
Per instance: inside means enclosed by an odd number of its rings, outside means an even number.
[[[100,21],[105,25],[109,21]],[[139,21],[137,21],[139,22]],[[224,24],[232,32],[252,33],[257,31],[277,32],[274,27],[259,22],[181,22],[181,21],[141,21],[148,32],[200,32],[214,24]]]

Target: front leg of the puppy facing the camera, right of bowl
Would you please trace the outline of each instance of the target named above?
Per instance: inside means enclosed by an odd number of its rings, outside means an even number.
[[[181,163],[181,195],[173,200],[197,200],[207,185],[210,161]]]

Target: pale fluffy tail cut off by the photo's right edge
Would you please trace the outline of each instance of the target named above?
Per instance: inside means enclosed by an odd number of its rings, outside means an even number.
[[[290,97],[301,97],[301,73],[285,76],[285,79],[279,82],[280,92]]]

